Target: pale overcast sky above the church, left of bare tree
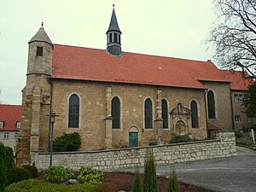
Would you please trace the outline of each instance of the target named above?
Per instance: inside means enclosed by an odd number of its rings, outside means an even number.
[[[0,0],[0,101],[21,104],[27,42],[41,21],[54,44],[106,49],[113,0]],[[115,0],[122,49],[199,61],[215,19],[212,0]]]

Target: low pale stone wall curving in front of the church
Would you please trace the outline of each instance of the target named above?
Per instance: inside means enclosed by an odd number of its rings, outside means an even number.
[[[216,131],[216,139],[193,143],[178,143],[143,148],[122,148],[103,151],[58,152],[53,154],[53,166],[94,166],[101,170],[115,170],[143,166],[147,148],[153,148],[156,164],[207,160],[236,155],[234,131]],[[32,163],[38,170],[49,166],[49,153],[32,152]]]

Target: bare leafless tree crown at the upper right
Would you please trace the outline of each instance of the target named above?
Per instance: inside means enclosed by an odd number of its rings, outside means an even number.
[[[256,1],[214,0],[218,19],[210,32],[214,59],[221,67],[256,78]]]

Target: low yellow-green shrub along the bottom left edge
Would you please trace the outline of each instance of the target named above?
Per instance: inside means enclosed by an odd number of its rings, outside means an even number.
[[[13,183],[6,188],[6,192],[42,192],[42,191],[68,191],[68,192],[96,192],[95,186],[84,184],[55,184],[46,183],[43,180],[28,179],[19,183]]]

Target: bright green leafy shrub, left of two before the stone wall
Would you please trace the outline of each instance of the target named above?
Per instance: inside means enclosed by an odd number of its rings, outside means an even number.
[[[49,166],[45,170],[44,180],[49,183],[67,182],[68,179],[73,178],[73,169],[65,168],[64,166]]]

